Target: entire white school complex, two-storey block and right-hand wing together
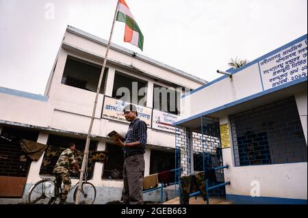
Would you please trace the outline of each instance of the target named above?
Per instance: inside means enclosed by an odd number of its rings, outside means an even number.
[[[43,96],[0,87],[0,204],[25,203],[38,180],[53,178],[53,148],[73,141],[84,149],[106,46],[68,26]],[[230,185],[211,196],[235,204],[307,204],[307,35],[227,72],[208,83],[112,44],[91,134],[90,150],[108,156],[88,172],[97,188],[94,204],[120,201],[123,180],[112,172],[123,169],[123,151],[107,134],[125,135],[121,110],[129,101],[148,126],[145,176],[229,165],[219,182]],[[164,97],[155,88],[164,87],[177,97],[159,104]],[[20,139],[52,149],[38,161],[24,159]],[[164,188],[163,200],[176,191]],[[159,198],[159,190],[144,193],[145,201]]]

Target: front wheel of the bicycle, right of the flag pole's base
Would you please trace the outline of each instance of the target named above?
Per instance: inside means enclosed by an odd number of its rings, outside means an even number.
[[[78,191],[78,185],[74,192],[74,202]],[[79,193],[79,204],[93,204],[97,197],[97,189],[90,182],[82,182],[81,192]]]

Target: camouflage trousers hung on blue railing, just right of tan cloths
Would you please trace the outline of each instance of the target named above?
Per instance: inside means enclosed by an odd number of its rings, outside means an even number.
[[[206,200],[205,191],[205,174],[198,172],[197,174],[182,176],[181,180],[181,204],[190,204],[190,193],[201,191],[203,200]]]

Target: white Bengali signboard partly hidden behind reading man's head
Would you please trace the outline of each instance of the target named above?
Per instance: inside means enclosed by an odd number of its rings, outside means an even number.
[[[129,105],[129,103],[126,103],[123,100],[118,100],[105,96],[105,100],[103,103],[103,113],[101,117],[109,120],[129,123],[123,115],[123,108],[126,105]],[[138,110],[138,118],[146,122],[146,126],[148,126],[148,128],[151,128],[152,109],[149,107],[142,107],[140,105],[136,105],[136,107]]]

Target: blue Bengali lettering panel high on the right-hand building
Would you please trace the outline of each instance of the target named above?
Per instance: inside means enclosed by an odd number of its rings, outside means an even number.
[[[264,90],[307,77],[307,39],[259,62]]]

